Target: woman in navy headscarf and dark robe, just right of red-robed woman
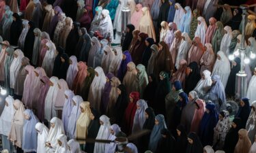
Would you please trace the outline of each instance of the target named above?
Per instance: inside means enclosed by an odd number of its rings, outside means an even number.
[[[199,126],[199,137],[203,146],[212,146],[212,140],[214,135],[214,127],[218,122],[218,114],[215,109],[214,103],[208,103],[205,106],[208,112],[205,112]]]

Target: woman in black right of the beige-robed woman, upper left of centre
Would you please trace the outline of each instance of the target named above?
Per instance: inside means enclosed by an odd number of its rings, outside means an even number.
[[[70,31],[67,37],[68,43],[66,43],[66,53],[68,54],[68,56],[74,55],[74,49],[76,48],[76,44],[78,44],[79,42],[80,23],[74,22],[73,26],[74,28]]]

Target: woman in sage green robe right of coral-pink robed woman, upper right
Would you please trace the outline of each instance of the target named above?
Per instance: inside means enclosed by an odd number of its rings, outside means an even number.
[[[221,48],[221,40],[223,39],[224,35],[224,26],[221,21],[216,22],[216,29],[214,36],[212,37],[212,49],[214,50],[214,53],[216,54],[220,48]]]

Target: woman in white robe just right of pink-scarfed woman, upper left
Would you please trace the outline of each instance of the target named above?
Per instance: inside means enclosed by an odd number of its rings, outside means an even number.
[[[56,47],[52,41],[48,41],[46,43],[46,47],[48,50],[46,51],[46,54],[44,56],[42,68],[44,69],[46,75],[48,77],[51,77],[53,73],[53,65],[56,56]]]

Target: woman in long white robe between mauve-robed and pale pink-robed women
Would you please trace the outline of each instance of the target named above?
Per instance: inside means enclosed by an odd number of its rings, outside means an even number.
[[[46,118],[46,120],[51,120],[51,118],[57,116],[54,105],[59,90],[59,79],[53,76],[50,78],[50,81],[53,83],[53,86],[50,86],[44,101],[44,118]]]

